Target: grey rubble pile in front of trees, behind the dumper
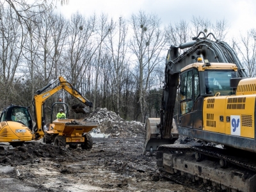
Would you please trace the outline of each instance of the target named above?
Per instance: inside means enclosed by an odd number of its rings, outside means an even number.
[[[92,132],[109,134],[111,138],[144,138],[145,124],[135,121],[125,121],[115,112],[109,111],[107,108],[97,108],[90,113],[84,121],[98,122],[99,126],[92,129]]]

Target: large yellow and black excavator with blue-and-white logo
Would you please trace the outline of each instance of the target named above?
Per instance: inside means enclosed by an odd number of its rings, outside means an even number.
[[[227,43],[201,31],[171,45],[161,104],[143,148],[156,151],[159,170],[218,191],[256,190],[256,78]]]

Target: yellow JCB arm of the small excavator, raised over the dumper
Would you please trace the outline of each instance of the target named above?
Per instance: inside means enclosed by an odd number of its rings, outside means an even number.
[[[52,84],[54,84],[56,81],[60,81],[54,88],[51,90],[47,90]],[[90,100],[86,99],[72,84],[68,83],[63,77],[59,77],[55,81],[53,81],[50,84],[47,84],[44,88],[41,90],[36,91],[36,94],[34,96],[33,105],[35,108],[35,119],[36,119],[36,125],[33,128],[33,131],[35,132],[35,140],[40,139],[44,137],[44,129],[43,129],[43,106],[45,100],[47,100],[49,97],[54,95],[54,93],[58,92],[59,90],[65,90],[73,97],[76,97],[76,99],[80,100],[83,104],[86,106],[92,108],[93,104],[90,102]]]

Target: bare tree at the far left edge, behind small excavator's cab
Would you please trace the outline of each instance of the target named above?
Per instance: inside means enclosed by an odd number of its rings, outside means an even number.
[[[2,7],[3,8],[3,7]],[[10,104],[18,98],[13,97],[15,90],[13,83],[15,74],[19,72],[24,41],[17,24],[17,15],[9,7],[0,11],[0,83],[1,89],[5,90],[1,95],[3,105]]]

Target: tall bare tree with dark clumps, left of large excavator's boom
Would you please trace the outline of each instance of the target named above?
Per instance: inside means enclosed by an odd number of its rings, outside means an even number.
[[[146,15],[145,12],[139,12],[138,15],[132,14],[131,17],[132,39],[130,49],[136,56],[136,65],[138,65],[141,122],[145,121],[146,93],[148,90],[148,81],[155,67],[161,62],[161,51],[166,44],[166,38],[160,28],[160,20],[156,15]]]

